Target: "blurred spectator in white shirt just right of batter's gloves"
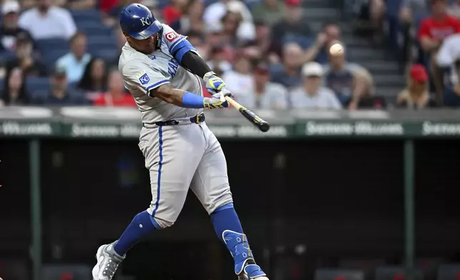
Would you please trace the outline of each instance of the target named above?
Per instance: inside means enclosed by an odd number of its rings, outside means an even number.
[[[234,69],[226,71],[222,75],[222,79],[224,79],[226,83],[226,88],[235,94],[235,96],[244,94],[251,86],[253,86],[251,68],[249,59],[240,54],[236,57]]]

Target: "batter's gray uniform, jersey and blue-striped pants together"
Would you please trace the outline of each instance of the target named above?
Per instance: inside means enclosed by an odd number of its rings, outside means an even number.
[[[167,227],[179,216],[189,189],[209,214],[233,200],[221,144],[206,123],[189,121],[202,109],[184,109],[149,96],[151,89],[167,83],[202,96],[200,78],[179,66],[170,52],[186,37],[163,26],[161,50],[146,55],[126,43],[119,69],[139,106],[141,121],[179,120],[178,125],[143,127],[139,138],[150,173],[152,200],[147,211],[159,226]]]

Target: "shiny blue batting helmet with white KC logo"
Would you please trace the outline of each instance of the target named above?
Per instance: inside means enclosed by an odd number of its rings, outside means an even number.
[[[163,29],[149,8],[142,4],[130,4],[120,14],[121,31],[136,40],[148,39]]]

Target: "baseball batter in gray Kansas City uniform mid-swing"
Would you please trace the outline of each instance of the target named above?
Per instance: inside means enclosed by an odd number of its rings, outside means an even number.
[[[94,280],[111,280],[134,244],[172,226],[189,188],[233,256],[238,278],[268,280],[236,215],[221,145],[204,122],[204,109],[228,107],[224,96],[231,93],[186,37],[157,21],[146,6],[127,6],[120,25],[127,42],[119,70],[141,111],[139,149],[150,172],[152,200],[118,240],[99,247]],[[203,96],[201,79],[210,98]]]

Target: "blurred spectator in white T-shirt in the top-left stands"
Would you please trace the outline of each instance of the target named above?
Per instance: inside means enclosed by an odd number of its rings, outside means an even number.
[[[30,32],[35,40],[70,39],[76,33],[69,11],[53,6],[51,0],[36,0],[37,6],[19,16],[19,26]]]

